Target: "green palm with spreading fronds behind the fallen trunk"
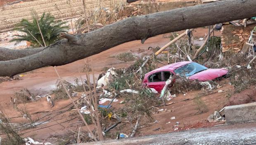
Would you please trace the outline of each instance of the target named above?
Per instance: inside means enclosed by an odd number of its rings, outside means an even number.
[[[26,34],[14,35],[17,38],[11,41],[16,41],[16,44],[21,41],[29,41],[32,47],[49,46],[60,39],[60,32],[65,32],[64,30],[69,28],[65,24],[66,22],[63,21],[55,21],[55,17],[51,16],[50,13],[43,13],[40,19],[34,14],[31,22],[27,19],[22,19],[14,28],[14,30],[25,32]]]

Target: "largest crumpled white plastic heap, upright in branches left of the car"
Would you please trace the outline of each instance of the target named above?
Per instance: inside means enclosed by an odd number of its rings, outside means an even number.
[[[111,79],[113,76],[116,76],[116,68],[111,67],[109,70],[107,70],[107,73],[105,74],[105,76],[102,76],[102,78],[100,78],[97,81],[97,88],[100,88],[105,85],[107,85],[109,83],[109,79]]]

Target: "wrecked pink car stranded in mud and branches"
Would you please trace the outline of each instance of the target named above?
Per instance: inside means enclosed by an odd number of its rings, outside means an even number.
[[[143,87],[154,88],[161,92],[165,82],[170,75],[179,74],[190,80],[210,81],[215,78],[223,77],[228,73],[226,69],[208,69],[207,67],[196,62],[177,62],[160,67],[145,74]],[[173,81],[173,83],[175,80]]]

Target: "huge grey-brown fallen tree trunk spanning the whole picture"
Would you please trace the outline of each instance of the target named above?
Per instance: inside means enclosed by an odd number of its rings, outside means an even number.
[[[0,62],[0,76],[59,66],[95,55],[128,41],[142,40],[168,32],[198,28],[256,16],[255,0],[224,0],[136,16],[83,35],[63,34],[63,39],[39,53]]]

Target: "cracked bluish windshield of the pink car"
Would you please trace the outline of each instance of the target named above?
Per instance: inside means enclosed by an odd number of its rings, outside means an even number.
[[[192,76],[193,74],[197,74],[200,71],[204,71],[206,69],[208,68],[196,62],[192,62],[190,64],[186,64],[182,67],[179,67],[178,69],[175,69],[174,72],[176,74],[180,74],[187,77],[187,76]]]

